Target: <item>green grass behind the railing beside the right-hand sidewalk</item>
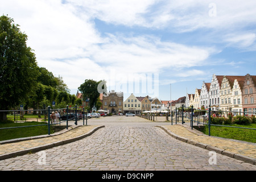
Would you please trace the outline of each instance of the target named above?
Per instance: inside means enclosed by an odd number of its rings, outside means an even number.
[[[250,125],[226,125],[226,126],[238,126],[256,129],[256,123]],[[208,125],[201,130],[204,134],[209,135]],[[236,140],[243,140],[246,142],[256,143],[256,130],[249,129],[237,129],[233,127],[222,127],[222,126],[210,126],[210,135],[221,138],[229,138]]]

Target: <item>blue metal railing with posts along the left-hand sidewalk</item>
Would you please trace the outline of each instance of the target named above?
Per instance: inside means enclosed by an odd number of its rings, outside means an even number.
[[[16,126],[16,127],[3,127],[0,128],[0,130],[5,130],[5,129],[17,129],[17,128],[22,128],[22,127],[36,127],[36,126],[48,126],[48,135],[51,134],[51,126],[52,125],[60,125],[61,123],[66,123],[66,128],[68,129],[68,122],[73,120],[75,121],[75,125],[77,125],[77,121],[80,119],[79,115],[77,114],[77,105],[75,107],[69,107],[63,108],[63,109],[51,109],[50,106],[48,106],[47,109],[41,109],[41,110],[0,110],[0,112],[5,112],[5,113],[14,113],[16,114],[17,121],[18,121],[18,113],[23,113],[26,111],[36,111],[44,114],[44,118],[48,120],[45,120],[46,124],[43,125],[31,125],[31,126]],[[56,119],[56,121],[53,121],[51,118],[51,113],[55,111],[58,111],[58,113],[64,113],[60,114],[60,118]],[[74,113],[75,112],[75,113]],[[84,107],[82,109],[82,119],[83,119],[83,125],[86,124],[87,126],[87,111],[84,110]],[[14,117],[15,120],[15,117]],[[38,120],[38,119],[37,119]],[[26,122],[26,120],[25,120]],[[86,122],[86,123],[85,123]]]

